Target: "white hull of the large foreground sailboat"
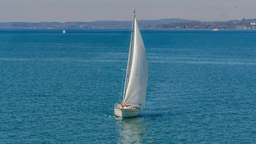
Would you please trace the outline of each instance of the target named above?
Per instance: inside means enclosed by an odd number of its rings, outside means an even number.
[[[115,116],[120,118],[132,118],[137,117],[139,115],[139,109],[122,109],[115,107],[114,108]]]

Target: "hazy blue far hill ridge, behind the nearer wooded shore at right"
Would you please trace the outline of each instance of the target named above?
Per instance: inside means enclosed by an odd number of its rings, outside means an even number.
[[[199,22],[188,19],[169,18],[157,20],[139,20],[140,28],[180,23]],[[0,22],[0,29],[131,29],[132,21],[93,21],[93,22]]]

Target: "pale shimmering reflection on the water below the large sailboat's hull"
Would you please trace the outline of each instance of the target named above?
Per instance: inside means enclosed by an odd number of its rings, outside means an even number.
[[[116,132],[120,135],[118,143],[143,143],[147,137],[146,123],[142,118],[115,118]]]

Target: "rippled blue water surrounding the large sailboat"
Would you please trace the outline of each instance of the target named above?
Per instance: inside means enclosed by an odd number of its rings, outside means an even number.
[[[255,143],[255,30],[141,30],[146,108],[115,118],[130,30],[0,30],[0,143]]]

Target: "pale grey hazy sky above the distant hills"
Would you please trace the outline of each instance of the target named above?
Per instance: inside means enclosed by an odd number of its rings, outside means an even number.
[[[0,22],[256,18],[256,0],[0,0]]]

